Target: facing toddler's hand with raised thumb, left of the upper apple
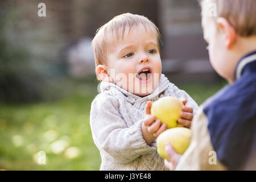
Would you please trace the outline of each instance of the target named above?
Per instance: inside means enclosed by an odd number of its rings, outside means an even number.
[[[146,115],[142,122],[142,135],[147,144],[150,144],[156,137],[158,137],[163,131],[166,130],[166,123],[161,125],[161,121],[158,119],[155,121],[155,115],[151,114],[152,102],[148,101],[146,104]]]

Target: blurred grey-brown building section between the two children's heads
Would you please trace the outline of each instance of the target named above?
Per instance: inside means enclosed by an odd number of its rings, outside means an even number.
[[[163,35],[163,72],[175,80],[214,80],[207,43],[201,28],[198,1],[161,0],[159,22]]]

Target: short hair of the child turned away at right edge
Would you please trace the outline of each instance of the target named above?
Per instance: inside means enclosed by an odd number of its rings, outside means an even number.
[[[208,0],[208,2],[212,3],[215,7],[204,6],[206,1],[207,0],[200,1],[202,10],[209,11],[204,9],[216,8],[216,16],[213,15],[213,19],[217,17],[225,18],[240,36],[256,34],[255,0]]]

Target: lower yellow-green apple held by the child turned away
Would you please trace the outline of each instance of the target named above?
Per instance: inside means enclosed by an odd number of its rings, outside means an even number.
[[[156,139],[158,154],[162,158],[168,159],[164,148],[167,142],[172,144],[172,147],[178,154],[184,154],[189,146],[191,135],[192,131],[186,127],[175,127],[164,131]]]

